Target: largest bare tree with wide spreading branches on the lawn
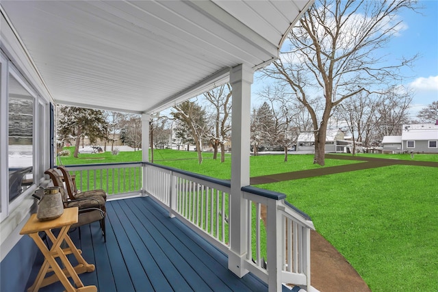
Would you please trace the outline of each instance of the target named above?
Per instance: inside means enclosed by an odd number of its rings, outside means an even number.
[[[266,76],[290,86],[309,111],[315,136],[314,163],[324,165],[327,123],[334,107],[381,84],[400,82],[399,69],[415,57],[385,63],[379,49],[400,31],[396,14],[416,1],[319,0],[300,18],[287,38],[289,51],[263,69]],[[381,57],[379,57],[381,56]],[[385,65],[387,64],[387,65]],[[310,96],[319,97],[322,112]]]

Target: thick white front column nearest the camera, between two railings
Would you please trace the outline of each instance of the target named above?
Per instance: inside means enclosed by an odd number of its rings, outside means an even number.
[[[233,116],[231,137],[231,198],[230,198],[230,248],[228,267],[234,274],[243,277],[247,252],[248,230],[246,217],[248,200],[240,190],[249,185],[250,156],[250,97],[253,69],[246,65],[231,68],[230,83],[233,88]]]

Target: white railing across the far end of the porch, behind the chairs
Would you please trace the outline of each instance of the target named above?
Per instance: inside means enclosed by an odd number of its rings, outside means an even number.
[[[141,162],[65,165],[75,175],[77,189],[103,189],[108,199],[142,194]]]

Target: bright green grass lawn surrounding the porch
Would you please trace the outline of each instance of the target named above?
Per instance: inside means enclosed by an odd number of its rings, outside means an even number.
[[[129,154],[125,157],[125,153]],[[141,160],[141,152],[99,155],[104,158],[81,155],[81,159],[62,157],[62,161]],[[196,152],[155,150],[155,163],[230,178],[231,156],[220,163],[211,159],[211,153],[203,155],[199,165]],[[409,154],[361,156],[411,159]],[[286,163],[283,159],[283,155],[250,157],[250,176],[321,168],[312,163],[312,155],[289,155]],[[438,155],[415,154],[413,160],[438,161]],[[324,168],[346,163],[357,162],[326,159]],[[289,202],[308,213],[318,232],[346,257],[372,291],[438,291],[437,178],[438,168],[391,165],[258,187],[286,194]]]

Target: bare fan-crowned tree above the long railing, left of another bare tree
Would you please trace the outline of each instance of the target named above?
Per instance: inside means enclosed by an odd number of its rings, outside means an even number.
[[[175,105],[173,109],[175,111],[172,111],[172,116],[178,119],[188,129],[188,134],[192,136],[196,152],[198,152],[198,163],[201,164],[203,162],[201,139],[208,131],[205,109],[195,101],[184,101]]]

